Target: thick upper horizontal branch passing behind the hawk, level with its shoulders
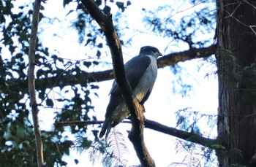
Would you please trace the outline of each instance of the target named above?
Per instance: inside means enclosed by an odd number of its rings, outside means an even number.
[[[211,55],[214,55],[216,52],[216,46],[211,45],[210,47],[203,47],[200,49],[187,50],[180,53],[170,53],[168,55],[162,56],[157,60],[158,68],[164,68],[166,66],[174,65],[178,62],[189,61],[195,58],[207,58]],[[75,74],[72,73],[72,70],[67,70],[64,72],[61,77],[48,77],[36,79],[36,88],[39,88],[40,85],[44,85],[45,88],[54,88],[54,87],[65,87],[69,85],[86,85],[87,82],[102,82],[113,79],[113,69],[98,71],[98,72],[86,72],[80,71]],[[61,82],[65,80],[66,82]],[[18,85],[26,85],[27,80],[20,79],[10,79],[8,82],[17,83]],[[13,84],[12,84],[13,85]]]

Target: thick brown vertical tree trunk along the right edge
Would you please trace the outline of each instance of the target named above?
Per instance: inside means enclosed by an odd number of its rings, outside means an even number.
[[[255,166],[256,1],[217,1],[219,166]],[[241,152],[240,152],[241,151]]]

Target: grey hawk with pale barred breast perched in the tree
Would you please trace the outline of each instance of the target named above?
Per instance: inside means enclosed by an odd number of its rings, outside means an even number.
[[[157,79],[157,58],[161,55],[156,47],[145,46],[140,48],[139,55],[124,64],[124,70],[132,88],[132,93],[141,105],[148,99]],[[121,123],[128,116],[129,109],[121,96],[116,81],[114,81],[110,90],[110,102],[105,114],[105,121],[99,137],[102,138],[106,133],[105,139],[107,139],[110,129]]]

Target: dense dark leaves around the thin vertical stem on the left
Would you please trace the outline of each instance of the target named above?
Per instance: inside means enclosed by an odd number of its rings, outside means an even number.
[[[64,1],[64,6],[70,1]],[[0,162],[3,166],[37,166],[34,130],[31,123],[29,91],[27,85],[27,66],[29,53],[29,37],[31,31],[32,4],[19,6],[16,1],[0,2]],[[43,9],[43,7],[42,7]],[[40,13],[41,20],[50,20]],[[69,61],[49,52],[47,47],[37,43],[36,48],[36,82],[39,113],[45,109],[56,108],[56,101],[61,102],[61,109],[56,109],[56,120],[95,120],[89,117],[93,113],[90,91],[98,88],[81,76],[81,71],[96,64],[86,61]],[[72,81],[83,80],[81,85],[63,79],[69,75]],[[55,79],[53,79],[55,78]],[[53,82],[48,80],[53,79]],[[59,90],[59,97],[52,96]],[[71,133],[77,136],[86,133],[86,126],[72,128]],[[66,166],[62,156],[69,155],[73,141],[63,136],[64,128],[58,131],[42,131],[45,166]],[[97,133],[95,133],[95,136]],[[4,163],[3,163],[4,162]]]

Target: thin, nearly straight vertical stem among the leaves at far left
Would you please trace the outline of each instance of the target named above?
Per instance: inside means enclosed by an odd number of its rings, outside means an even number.
[[[37,28],[39,23],[39,10],[41,7],[41,1],[34,1],[33,8],[33,18],[31,26],[31,36],[29,39],[29,70],[28,70],[28,84],[29,84],[29,97],[30,105],[32,109],[32,117],[34,123],[34,135],[36,142],[36,152],[37,152],[37,166],[41,167],[44,163],[43,152],[42,152],[42,136],[39,129],[38,122],[38,108],[37,108],[37,99],[36,91],[34,85],[34,66],[35,66],[35,50],[37,44]]]

